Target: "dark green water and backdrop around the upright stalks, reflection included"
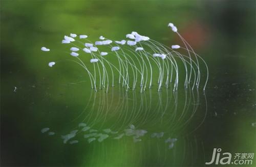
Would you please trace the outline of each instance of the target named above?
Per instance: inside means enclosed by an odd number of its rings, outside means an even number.
[[[1,10],[2,166],[204,166],[214,148],[231,161],[255,152],[255,2],[2,1]],[[205,92],[96,93],[79,67],[47,66],[69,58],[58,50],[70,32],[179,43],[170,20],[208,64]],[[41,53],[46,44],[53,54]]]

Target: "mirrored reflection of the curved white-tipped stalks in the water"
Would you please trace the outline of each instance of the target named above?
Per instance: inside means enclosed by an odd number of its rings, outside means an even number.
[[[205,115],[200,115],[202,121],[199,125],[194,124],[194,129],[189,128],[190,131],[186,131],[188,125],[192,127],[191,122],[198,107],[202,105],[196,91],[184,90],[182,96],[176,91],[162,91],[152,96],[151,91],[127,93],[125,89],[119,89],[118,94],[114,91],[92,91],[86,107],[73,120],[81,121],[77,123],[77,128],[61,135],[63,143],[80,136],[89,143],[96,140],[103,142],[107,138],[120,140],[124,136],[131,137],[134,142],[141,142],[146,135],[149,138],[163,137],[165,141],[173,141],[177,140],[177,135],[195,131],[205,118]],[[41,132],[49,129],[43,128]],[[53,134],[54,132],[49,135]],[[173,145],[175,142],[170,143]]]

